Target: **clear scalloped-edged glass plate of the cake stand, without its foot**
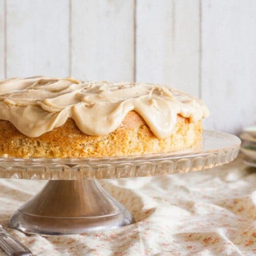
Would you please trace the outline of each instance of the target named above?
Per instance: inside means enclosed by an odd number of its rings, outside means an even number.
[[[204,131],[200,150],[104,158],[0,158],[0,177],[76,180],[157,176],[190,172],[228,163],[237,157],[241,140]]]

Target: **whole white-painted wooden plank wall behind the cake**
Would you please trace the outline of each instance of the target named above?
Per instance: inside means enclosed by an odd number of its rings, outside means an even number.
[[[163,83],[208,129],[256,123],[255,0],[0,0],[0,78]]]

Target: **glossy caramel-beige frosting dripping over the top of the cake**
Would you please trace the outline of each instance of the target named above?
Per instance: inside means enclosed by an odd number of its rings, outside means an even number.
[[[47,77],[0,80],[0,119],[28,137],[50,132],[68,118],[83,133],[108,134],[132,110],[158,138],[172,134],[177,114],[191,122],[209,115],[203,101],[157,84]]]

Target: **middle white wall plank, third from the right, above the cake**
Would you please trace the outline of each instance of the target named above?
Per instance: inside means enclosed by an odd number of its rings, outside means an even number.
[[[85,80],[133,77],[134,0],[72,1],[72,75]]]

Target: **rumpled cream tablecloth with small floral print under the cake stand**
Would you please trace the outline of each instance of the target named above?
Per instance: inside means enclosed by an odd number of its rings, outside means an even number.
[[[8,220],[45,181],[7,179],[0,179],[0,223],[35,255],[256,255],[256,169],[240,159],[201,172],[101,183],[132,211],[135,224],[26,236],[8,228]]]

